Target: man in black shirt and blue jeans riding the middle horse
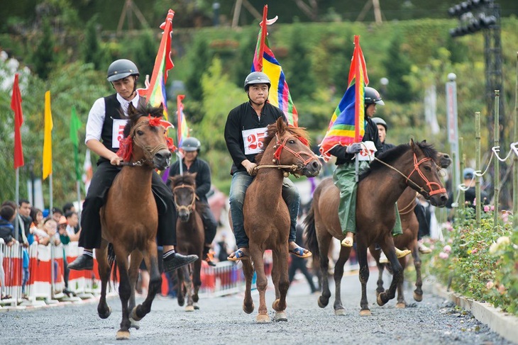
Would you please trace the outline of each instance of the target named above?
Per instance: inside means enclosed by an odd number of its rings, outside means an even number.
[[[275,123],[277,118],[284,118],[282,111],[268,102],[271,81],[263,72],[252,72],[245,79],[244,89],[248,102],[233,108],[228,113],[225,124],[225,142],[233,164],[230,187],[230,210],[236,246],[238,250],[228,256],[228,260],[237,261],[250,255],[248,237],[243,227],[243,202],[246,188],[253,181],[253,170],[257,163],[255,156],[261,151],[260,138],[265,135],[266,126]],[[282,184],[282,198],[290,211],[290,253],[299,257],[311,256],[307,249],[295,243],[297,234],[297,215],[300,196],[297,187],[285,178]]]

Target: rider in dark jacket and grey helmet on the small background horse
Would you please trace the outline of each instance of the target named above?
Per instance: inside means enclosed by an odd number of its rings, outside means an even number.
[[[211,189],[211,169],[209,164],[203,159],[198,158],[199,150],[202,147],[202,143],[199,142],[195,137],[187,137],[183,140],[180,150],[184,154],[182,159],[182,171],[191,174],[196,173],[196,196],[198,200],[206,205],[203,208],[201,214],[204,230],[205,230],[205,246],[203,250],[203,259],[209,266],[216,266],[212,261],[212,253],[209,252],[211,249],[212,241],[216,237],[216,229],[218,223],[212,215],[211,208],[209,207],[209,201],[207,200],[206,194]],[[177,160],[169,169],[169,176],[180,175],[180,160]],[[167,180],[167,186],[170,186],[171,181]]]

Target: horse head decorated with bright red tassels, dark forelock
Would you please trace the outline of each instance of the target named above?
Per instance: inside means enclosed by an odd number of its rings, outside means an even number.
[[[167,138],[171,123],[162,120],[163,108],[132,103],[128,106],[129,121],[123,132],[118,154],[131,166],[149,166],[163,170],[170,165],[172,140]]]

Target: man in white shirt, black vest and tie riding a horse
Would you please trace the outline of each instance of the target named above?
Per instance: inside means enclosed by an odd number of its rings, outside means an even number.
[[[81,256],[68,265],[68,268],[77,271],[93,267],[92,248],[99,248],[101,245],[99,210],[104,204],[106,191],[110,188],[115,176],[121,171],[122,158],[116,154],[119,150],[119,140],[117,140],[118,137],[114,137],[114,134],[121,133],[126,125],[129,104],[132,103],[137,107],[139,103],[145,102],[145,99],[140,97],[136,91],[139,73],[133,62],[126,59],[116,60],[108,67],[107,74],[107,79],[116,93],[95,101],[88,114],[84,140],[87,147],[99,155],[99,161],[81,213],[82,230],[79,235],[79,246],[84,247],[84,251]],[[172,192],[154,171],[151,188],[157,205],[160,205],[158,207],[157,240],[158,245],[164,247],[164,268],[165,271],[173,271],[175,268],[196,261],[198,256],[183,256],[175,253],[176,210]]]

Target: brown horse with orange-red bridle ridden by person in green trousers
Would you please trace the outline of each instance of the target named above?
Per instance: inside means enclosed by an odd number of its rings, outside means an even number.
[[[371,315],[366,296],[369,278],[367,249],[377,243],[387,254],[392,266],[392,283],[389,290],[378,295],[378,305],[385,305],[395,297],[397,283],[402,278],[402,266],[397,260],[392,228],[395,225],[394,205],[407,186],[419,191],[432,205],[443,207],[448,196],[443,188],[436,168],[437,152],[432,145],[414,142],[399,145],[384,152],[371,164],[358,182],[356,197],[356,249],[359,278],[362,285],[360,315]],[[375,191],[375,192],[374,192]],[[318,299],[319,307],[326,307],[331,297],[326,273],[329,266],[329,244],[333,237],[342,240],[338,203],[340,192],[331,179],[322,181],[313,194],[312,208],[304,219],[307,245],[320,262],[322,293]],[[351,247],[341,247],[340,256],[334,271],[335,280],[335,315],[345,315],[341,303],[341,278],[343,265],[346,263]]]

